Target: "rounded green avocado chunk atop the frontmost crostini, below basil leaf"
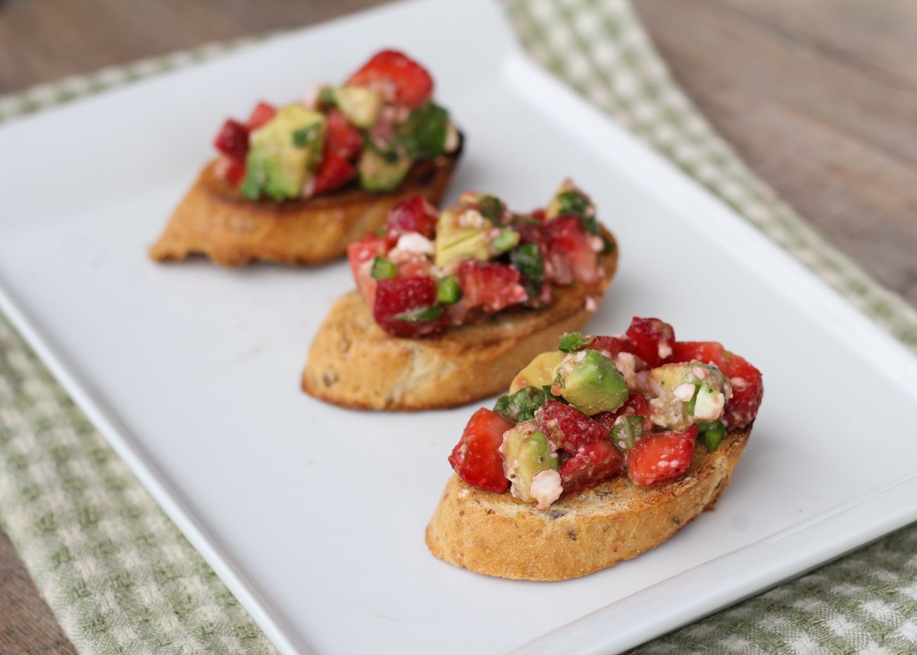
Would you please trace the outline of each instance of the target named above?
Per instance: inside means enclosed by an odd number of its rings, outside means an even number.
[[[565,355],[558,365],[552,393],[565,398],[586,416],[614,411],[630,395],[614,362],[597,350]]]

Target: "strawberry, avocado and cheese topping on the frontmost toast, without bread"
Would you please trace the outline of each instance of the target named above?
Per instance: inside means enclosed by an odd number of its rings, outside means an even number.
[[[547,509],[563,494],[619,475],[676,480],[696,442],[755,420],[761,372],[716,342],[679,342],[672,326],[635,318],[625,334],[567,333],[536,356],[493,409],[478,409],[449,456],[473,486]]]

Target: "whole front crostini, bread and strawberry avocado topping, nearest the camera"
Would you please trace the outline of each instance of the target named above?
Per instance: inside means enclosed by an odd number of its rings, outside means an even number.
[[[745,450],[761,373],[715,342],[635,318],[567,333],[478,409],[426,529],[476,573],[566,580],[656,547],[713,509]]]

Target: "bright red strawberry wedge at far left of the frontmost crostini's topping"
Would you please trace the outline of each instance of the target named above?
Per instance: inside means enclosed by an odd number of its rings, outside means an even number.
[[[462,480],[498,494],[506,491],[510,481],[503,475],[503,432],[513,427],[491,409],[481,408],[471,415],[461,439],[449,455],[449,464]]]

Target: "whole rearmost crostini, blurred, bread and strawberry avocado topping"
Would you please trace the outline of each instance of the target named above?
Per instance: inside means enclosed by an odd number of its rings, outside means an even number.
[[[401,52],[376,54],[343,86],[300,103],[260,103],[216,135],[204,167],[149,255],[315,264],[342,257],[398,202],[439,202],[462,137],[433,79]]]

